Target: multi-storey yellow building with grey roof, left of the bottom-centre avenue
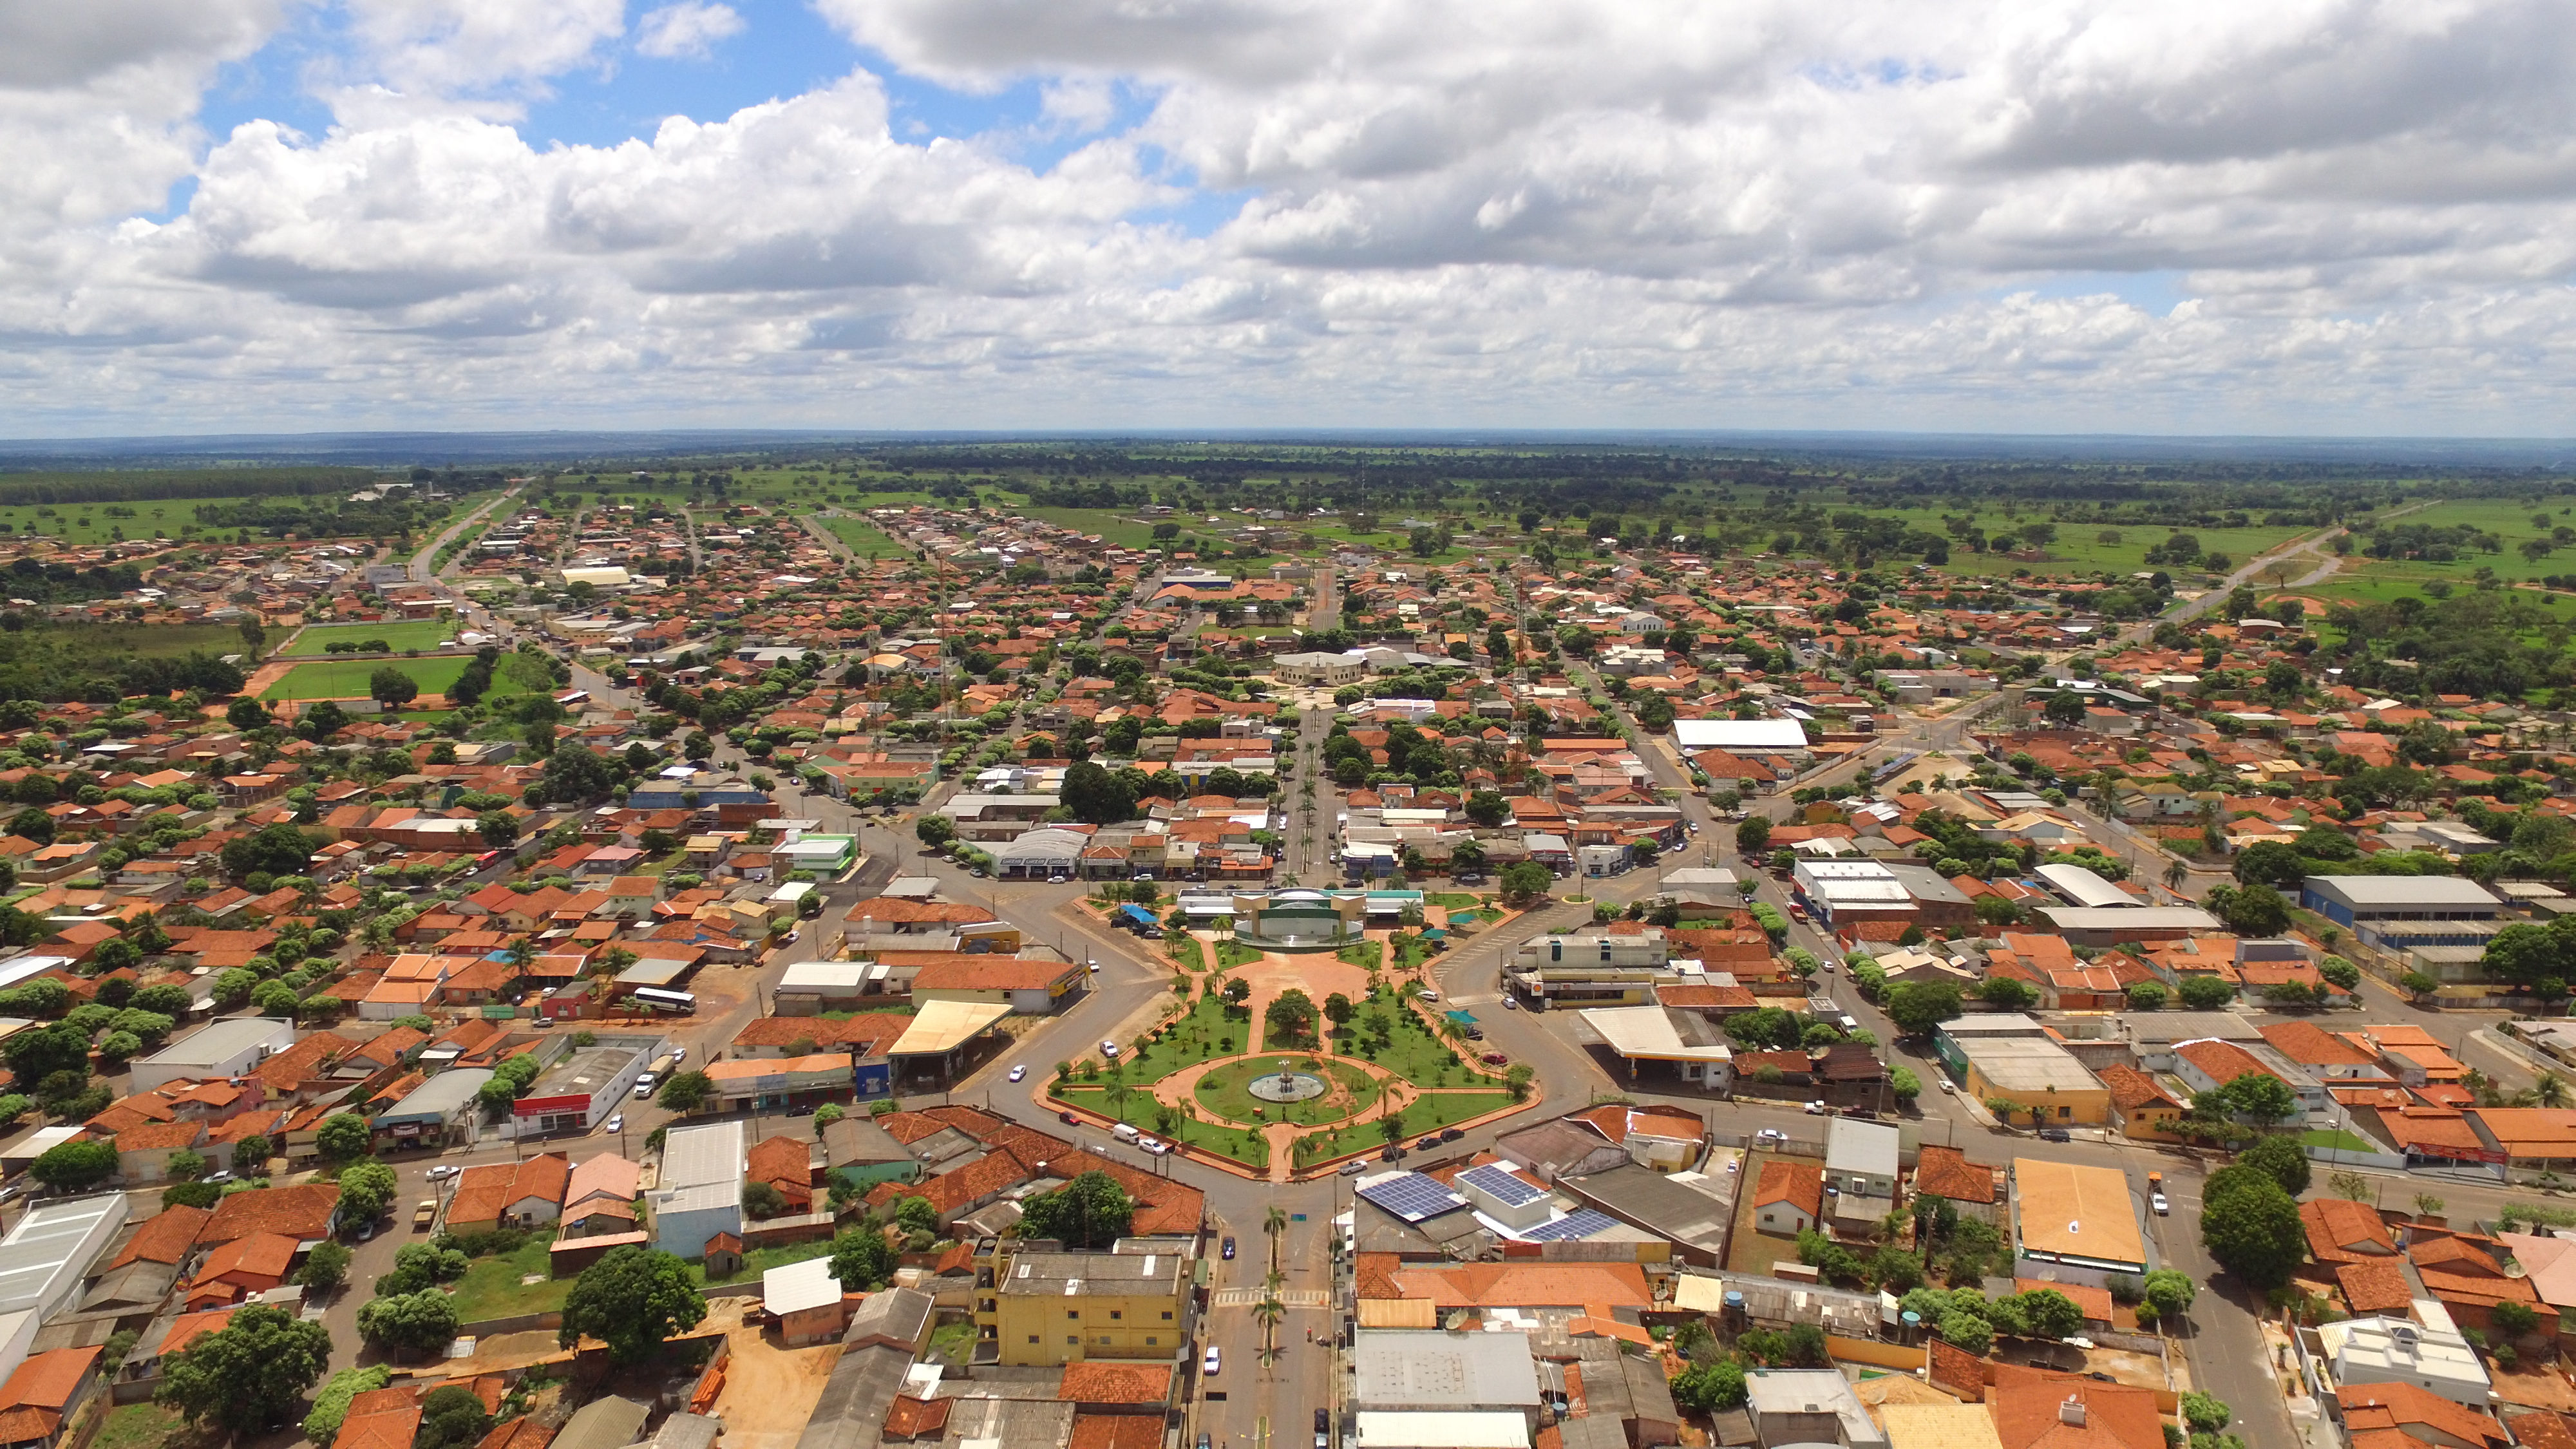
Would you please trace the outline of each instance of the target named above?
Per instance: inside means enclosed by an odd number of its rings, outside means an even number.
[[[976,1336],[1010,1366],[1164,1364],[1190,1338],[1190,1279],[1188,1253],[1064,1253],[1005,1243],[976,1263]]]

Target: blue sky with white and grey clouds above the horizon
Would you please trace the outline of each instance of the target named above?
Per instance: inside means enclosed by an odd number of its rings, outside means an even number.
[[[2566,0],[0,0],[0,436],[2576,433]]]

